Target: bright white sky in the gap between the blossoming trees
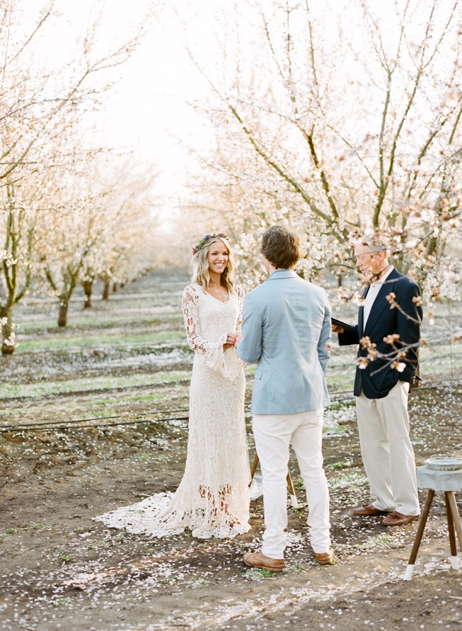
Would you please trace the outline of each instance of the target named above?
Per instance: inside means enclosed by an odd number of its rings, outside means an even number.
[[[63,6],[73,3],[59,1]],[[167,199],[167,215],[176,207],[176,198],[187,195],[188,172],[198,169],[188,148],[203,149],[213,140],[210,122],[192,107],[209,95],[209,87],[191,64],[186,45],[196,59],[213,67],[220,22],[239,16],[245,23],[246,3],[237,1],[244,9],[237,11],[230,0],[154,0],[156,16],[108,99],[105,137],[109,143],[133,146],[136,158],[159,170],[159,193]],[[109,30],[114,34],[127,20],[127,9],[135,21],[153,6],[149,0],[136,0],[133,11],[131,4],[110,0]]]

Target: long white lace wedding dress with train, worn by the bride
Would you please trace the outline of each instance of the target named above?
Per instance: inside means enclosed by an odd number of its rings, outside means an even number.
[[[173,495],[158,493],[95,519],[154,536],[188,528],[201,539],[224,538],[250,529],[244,368],[235,348],[223,351],[227,333],[240,325],[243,300],[240,286],[225,303],[198,284],[185,288],[183,315],[195,357],[183,479]]]

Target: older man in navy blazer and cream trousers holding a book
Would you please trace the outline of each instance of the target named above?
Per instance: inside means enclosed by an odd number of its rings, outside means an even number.
[[[340,346],[359,344],[354,394],[372,501],[356,507],[353,514],[385,514],[382,524],[402,526],[420,514],[407,399],[418,369],[422,308],[419,286],[400,274],[388,257],[384,237],[375,234],[360,239],[355,259],[366,288],[358,324],[347,329],[333,323],[332,328]],[[371,346],[360,343],[365,337],[375,345],[374,361],[368,359]],[[404,357],[388,359],[394,347],[404,349]]]

